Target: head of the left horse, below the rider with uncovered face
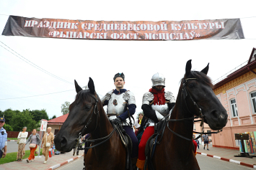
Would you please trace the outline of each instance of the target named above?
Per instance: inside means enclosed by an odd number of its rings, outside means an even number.
[[[69,152],[76,145],[79,135],[92,132],[97,128],[97,105],[101,105],[100,98],[95,93],[94,82],[89,77],[89,90],[82,88],[75,81],[76,99],[69,106],[69,116],[61,126],[54,138],[56,149],[58,151]]]

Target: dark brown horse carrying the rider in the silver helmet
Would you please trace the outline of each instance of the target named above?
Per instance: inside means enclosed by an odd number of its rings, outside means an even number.
[[[200,115],[200,109],[204,122],[211,129],[219,130],[226,126],[228,115],[213,93],[213,85],[207,76],[208,65],[200,72],[190,70],[191,60],[187,61],[185,76],[181,80],[176,105],[170,117],[171,120],[184,120],[169,121],[169,127],[165,128],[162,141],[156,145],[152,158],[156,170],[200,169],[192,148],[193,120],[189,119]]]

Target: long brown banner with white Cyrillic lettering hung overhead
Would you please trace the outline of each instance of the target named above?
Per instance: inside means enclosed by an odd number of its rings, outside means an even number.
[[[244,39],[240,19],[127,22],[9,16],[2,35],[62,39]]]

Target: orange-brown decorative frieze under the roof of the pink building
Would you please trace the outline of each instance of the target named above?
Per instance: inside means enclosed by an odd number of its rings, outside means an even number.
[[[256,71],[256,69],[254,69],[254,71]],[[221,85],[221,87],[214,89],[213,92],[215,93],[215,95],[219,95],[223,92],[225,93],[226,90],[234,88],[237,85],[241,85],[242,83],[252,80],[255,77],[256,75],[253,72],[247,72],[244,75],[241,75],[240,77],[237,77],[236,79],[227,82],[225,85]]]

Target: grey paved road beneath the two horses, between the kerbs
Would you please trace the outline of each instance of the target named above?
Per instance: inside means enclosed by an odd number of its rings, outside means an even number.
[[[208,156],[202,156],[198,154],[196,156],[198,159],[198,164],[200,166],[201,170],[213,170],[213,169],[219,169],[219,170],[250,170],[252,168],[249,168],[247,166],[241,166],[238,164],[233,164],[228,161],[221,161],[219,159],[213,159]],[[81,170],[83,169],[84,160],[83,157],[76,159],[75,161],[72,161],[69,164],[66,164],[64,166],[59,167],[57,170],[70,170],[70,169],[77,169]]]

